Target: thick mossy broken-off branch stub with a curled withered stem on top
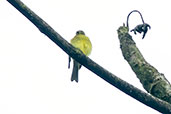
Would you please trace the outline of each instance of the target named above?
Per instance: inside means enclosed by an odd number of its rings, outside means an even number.
[[[171,104],[171,85],[169,81],[164,74],[159,73],[144,59],[132,36],[128,33],[128,28],[121,26],[118,29],[118,37],[124,59],[129,63],[144,89],[151,95]]]

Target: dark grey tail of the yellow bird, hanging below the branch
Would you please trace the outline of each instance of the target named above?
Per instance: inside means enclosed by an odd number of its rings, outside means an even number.
[[[80,64],[74,60],[74,66],[72,70],[72,76],[71,76],[71,81],[76,81],[78,82],[78,70],[80,69]]]

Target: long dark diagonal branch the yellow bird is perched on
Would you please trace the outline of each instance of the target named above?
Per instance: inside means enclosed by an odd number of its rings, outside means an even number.
[[[171,113],[171,105],[161,101],[157,98],[144,93],[138,88],[130,85],[129,83],[116,77],[114,74],[110,73],[106,69],[102,68],[94,61],[89,59],[82,53],[78,53],[70,43],[68,43],[64,38],[62,38],[53,28],[51,28],[45,21],[38,17],[33,11],[31,11],[26,5],[24,5],[20,0],[7,0],[11,5],[13,5],[18,11],[20,11],[25,17],[27,17],[42,33],[47,35],[54,43],[56,43],[62,50],[64,50],[69,56],[74,58],[76,61],[81,63],[83,66],[97,74],[99,77],[110,83],[111,85],[117,87],[124,93],[132,96],[138,101],[146,104],[147,106],[158,110],[162,113]]]

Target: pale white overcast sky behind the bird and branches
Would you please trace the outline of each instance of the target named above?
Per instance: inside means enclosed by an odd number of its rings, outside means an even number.
[[[116,32],[130,11],[139,10],[152,29],[144,40],[131,35],[147,62],[171,81],[169,0],[22,1],[67,41],[84,30],[93,45],[90,58],[145,91],[122,56]],[[71,82],[66,53],[5,0],[0,14],[1,114],[158,114],[84,67],[79,83]],[[130,28],[140,23],[132,14]]]

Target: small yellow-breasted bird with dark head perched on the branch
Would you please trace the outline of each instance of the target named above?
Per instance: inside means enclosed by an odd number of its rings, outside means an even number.
[[[82,30],[79,30],[76,32],[76,35],[74,38],[71,39],[71,44],[80,49],[86,56],[90,55],[92,50],[92,44],[87,36],[85,36],[85,33]],[[70,62],[70,57],[69,57]],[[78,70],[81,68],[81,65],[74,60],[73,70],[72,70],[72,76],[71,81],[78,82]],[[70,65],[69,65],[70,67]]]

